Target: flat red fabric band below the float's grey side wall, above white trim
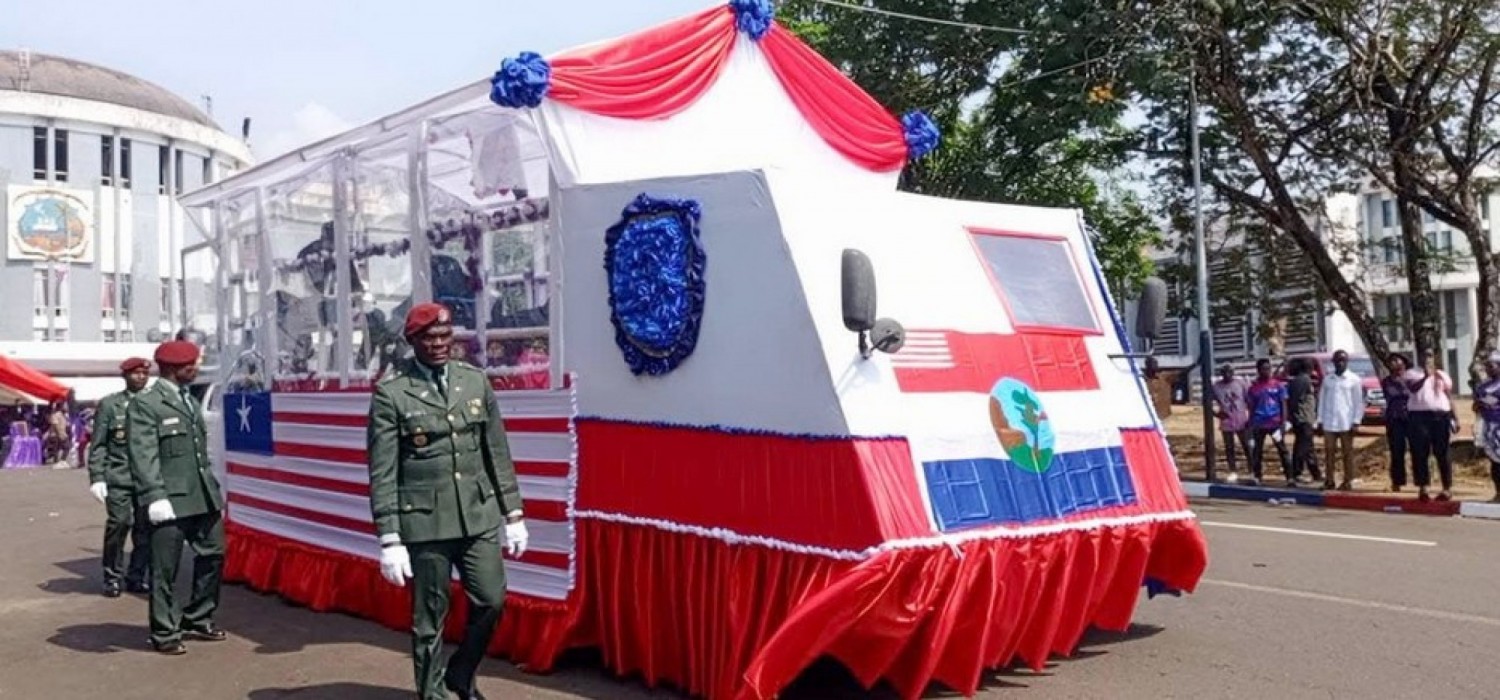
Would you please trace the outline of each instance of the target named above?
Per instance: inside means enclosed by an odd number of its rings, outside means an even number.
[[[904,439],[576,426],[580,510],[856,552],[930,532]]]

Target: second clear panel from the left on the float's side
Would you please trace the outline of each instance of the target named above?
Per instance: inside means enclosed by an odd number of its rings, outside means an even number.
[[[267,186],[264,207],[274,270],[276,379],[321,388],[339,376],[333,163],[316,163]]]

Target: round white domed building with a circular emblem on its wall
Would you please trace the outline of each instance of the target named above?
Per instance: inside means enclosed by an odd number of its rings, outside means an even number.
[[[0,51],[0,354],[81,400],[116,390],[118,379],[100,379],[183,325],[194,270],[206,267],[194,262],[204,235],[177,195],[249,163],[243,139],[162,87]]]

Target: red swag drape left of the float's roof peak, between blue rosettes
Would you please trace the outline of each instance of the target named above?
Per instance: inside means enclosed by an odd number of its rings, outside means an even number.
[[[606,117],[668,118],[712,87],[735,46],[735,18],[714,7],[626,40],[552,58],[548,99]]]

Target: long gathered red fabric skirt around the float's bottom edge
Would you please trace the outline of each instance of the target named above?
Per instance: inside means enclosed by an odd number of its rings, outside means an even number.
[[[314,610],[410,628],[405,589],[372,561],[230,523],[225,577]],[[768,699],[820,655],[915,699],[930,682],[974,694],[986,669],[1041,669],[1084,630],[1130,625],[1144,577],[1192,591],[1206,567],[1190,520],[826,559],[654,528],[580,520],[566,603],[508,597],[492,654],[548,672],[598,646],[616,673],[710,699]],[[448,636],[464,619],[454,591]]]

